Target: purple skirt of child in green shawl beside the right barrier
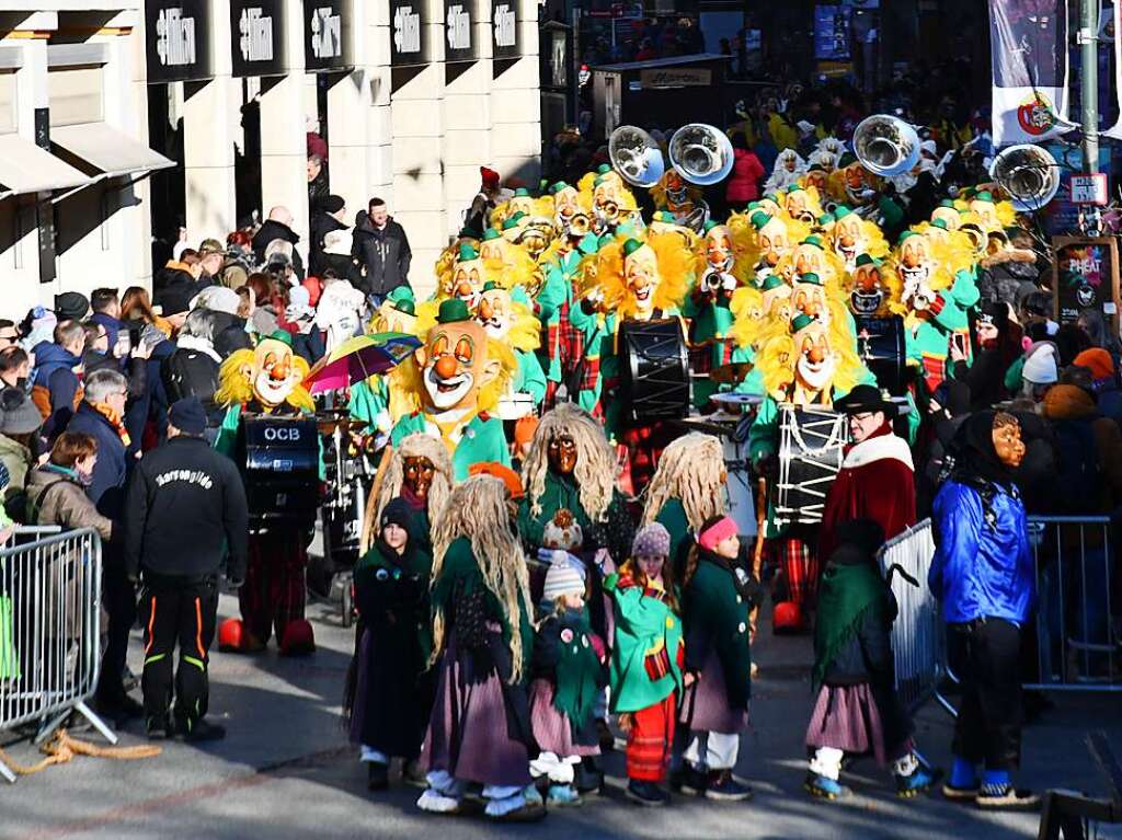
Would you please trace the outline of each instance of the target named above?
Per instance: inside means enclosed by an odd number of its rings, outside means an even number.
[[[900,758],[911,748],[911,739],[902,731],[901,737],[902,742],[888,742],[881,709],[868,683],[824,685],[807,727],[808,747],[833,747],[857,755],[871,753],[881,765]]]

